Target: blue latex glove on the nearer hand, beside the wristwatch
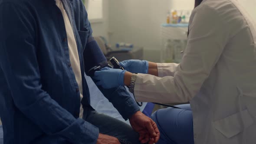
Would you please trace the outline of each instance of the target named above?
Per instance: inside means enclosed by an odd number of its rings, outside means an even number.
[[[124,84],[125,70],[103,68],[101,71],[94,73],[93,79],[98,80],[96,85],[103,88],[115,88]]]

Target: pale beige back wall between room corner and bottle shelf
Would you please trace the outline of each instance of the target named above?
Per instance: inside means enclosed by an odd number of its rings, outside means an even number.
[[[133,43],[144,49],[159,49],[160,25],[169,10],[169,0],[108,0],[109,39]]]

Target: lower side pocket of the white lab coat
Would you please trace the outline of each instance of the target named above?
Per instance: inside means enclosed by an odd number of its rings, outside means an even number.
[[[230,115],[226,118],[223,118],[219,121],[214,122],[214,127],[227,138],[231,138],[240,132],[243,131],[243,117],[244,127],[248,128],[253,124],[253,117],[249,114],[248,109],[240,112],[237,112],[234,115]]]

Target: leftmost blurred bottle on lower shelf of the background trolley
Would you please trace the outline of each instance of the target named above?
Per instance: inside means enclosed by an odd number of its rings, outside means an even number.
[[[174,55],[174,49],[173,49],[172,40],[167,39],[166,43],[164,44],[164,59],[165,59],[165,62],[167,62],[167,63],[173,62],[173,55]]]

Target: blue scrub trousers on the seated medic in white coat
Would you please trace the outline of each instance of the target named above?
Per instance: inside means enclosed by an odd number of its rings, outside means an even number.
[[[189,104],[155,111],[151,118],[158,125],[157,144],[194,144],[193,116]]]

